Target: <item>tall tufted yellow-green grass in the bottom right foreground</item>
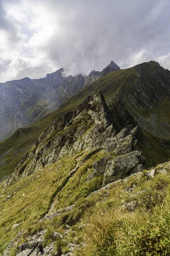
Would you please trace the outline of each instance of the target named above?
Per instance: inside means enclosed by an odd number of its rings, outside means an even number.
[[[131,180],[132,181],[132,180]],[[109,198],[99,202],[88,216],[89,226],[82,231],[85,249],[77,251],[82,256],[155,256],[169,255],[170,251],[170,177],[159,175],[153,180],[136,180],[133,194],[129,198],[121,185],[111,189]],[[123,186],[123,185],[122,185]],[[133,213],[121,205],[121,198],[137,199],[138,207]],[[127,201],[128,201],[127,200]]]

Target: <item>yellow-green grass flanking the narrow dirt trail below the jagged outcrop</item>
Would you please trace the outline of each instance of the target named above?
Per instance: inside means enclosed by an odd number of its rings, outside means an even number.
[[[42,226],[40,227],[39,224],[38,228],[36,227],[34,229],[34,224],[48,212],[54,198],[56,209],[65,206],[65,198],[68,191],[67,187],[66,191],[65,189],[62,191],[62,189],[68,182],[71,184],[72,180],[69,180],[68,173],[75,168],[77,163],[76,159],[78,157],[81,159],[85,156],[85,154],[81,155],[82,153],[71,158],[63,158],[57,164],[44,168],[42,171],[34,173],[6,189],[3,189],[3,184],[0,186],[0,195],[3,195],[3,198],[0,198],[0,228],[2,230],[0,236],[1,253],[10,240],[16,236],[18,230],[26,229],[27,233],[31,234],[41,229]],[[76,175],[77,179],[79,179],[79,175],[83,175],[81,178],[85,180],[88,175],[87,168],[91,166],[91,161],[98,160],[102,156],[103,153],[98,152],[91,160],[85,162],[81,168],[79,168],[80,171]],[[101,180],[101,178],[99,178],[98,181],[92,180],[91,184],[86,183],[82,188],[79,186],[77,194],[72,195],[72,198],[70,197],[66,204],[71,205],[78,198],[85,197],[90,192],[96,190],[96,188],[98,189],[102,184],[102,180],[100,182],[99,180]],[[58,193],[61,195],[61,200],[59,201],[57,199]],[[71,191],[69,193],[71,193]],[[7,195],[11,195],[11,198],[4,201]],[[20,222],[21,224],[16,230],[11,229],[14,224]],[[3,229],[3,227],[5,228]]]

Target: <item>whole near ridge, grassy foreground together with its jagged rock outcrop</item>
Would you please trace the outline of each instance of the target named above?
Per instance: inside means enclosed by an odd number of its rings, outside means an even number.
[[[3,256],[35,255],[37,241],[62,256],[170,250],[170,163],[142,172],[148,138],[123,105],[117,110],[100,91],[87,96],[45,128],[0,184]]]

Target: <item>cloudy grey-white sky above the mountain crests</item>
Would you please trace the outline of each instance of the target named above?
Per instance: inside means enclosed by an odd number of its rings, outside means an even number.
[[[0,0],[0,82],[158,61],[170,70],[170,0]]]

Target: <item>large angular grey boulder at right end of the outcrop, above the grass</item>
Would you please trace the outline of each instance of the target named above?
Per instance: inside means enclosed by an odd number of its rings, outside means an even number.
[[[139,170],[142,171],[143,166],[144,157],[140,151],[133,151],[117,157],[107,163],[103,184],[125,178],[132,173],[139,172]]]

